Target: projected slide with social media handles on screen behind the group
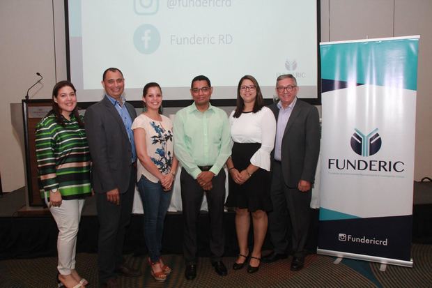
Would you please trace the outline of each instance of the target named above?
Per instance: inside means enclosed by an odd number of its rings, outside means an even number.
[[[292,73],[301,98],[317,98],[316,0],[68,1],[72,82],[99,100],[102,72],[123,71],[129,100],[147,82],[165,100],[190,99],[206,75],[213,99],[236,98],[238,80],[256,77],[273,98],[278,75]]]

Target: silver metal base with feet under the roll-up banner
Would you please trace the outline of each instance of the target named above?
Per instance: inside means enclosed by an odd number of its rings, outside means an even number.
[[[383,268],[385,271],[385,268],[387,267],[388,264],[412,268],[412,259],[410,261],[404,261],[404,260],[399,260],[399,259],[375,257],[375,256],[371,256],[371,255],[361,255],[361,254],[354,254],[354,253],[341,252],[341,251],[325,250],[325,249],[320,249],[320,248],[318,248],[316,250],[316,254],[337,257],[337,259],[333,262],[334,264],[339,264],[339,262],[341,262],[341,260],[343,258],[357,259],[357,260],[363,260],[363,261],[369,261],[369,262],[377,262],[377,263],[382,264],[380,266],[380,271],[383,271],[383,270],[381,270],[381,268]],[[341,259],[340,261],[338,261],[339,258]],[[383,266],[383,265],[385,265],[385,266]]]

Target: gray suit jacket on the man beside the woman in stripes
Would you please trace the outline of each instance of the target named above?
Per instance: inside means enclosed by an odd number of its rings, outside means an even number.
[[[132,121],[137,112],[125,103]],[[86,135],[90,147],[93,189],[105,193],[118,188],[124,193],[129,188],[132,148],[128,132],[107,96],[86,109],[84,116]]]

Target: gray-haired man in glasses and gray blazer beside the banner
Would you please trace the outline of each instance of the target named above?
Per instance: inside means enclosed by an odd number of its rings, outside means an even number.
[[[291,250],[292,271],[298,271],[304,265],[311,188],[320,150],[318,109],[299,100],[298,91],[293,75],[277,78],[279,103],[270,105],[277,120],[277,132],[272,153],[270,190],[273,211],[268,215],[270,237],[275,249],[263,257],[263,262],[275,262],[286,258],[287,251]],[[288,247],[290,242],[291,247]]]

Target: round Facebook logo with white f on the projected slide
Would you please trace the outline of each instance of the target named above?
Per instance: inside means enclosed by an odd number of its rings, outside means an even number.
[[[152,54],[159,48],[160,34],[151,24],[143,24],[135,30],[134,46],[142,54]]]

